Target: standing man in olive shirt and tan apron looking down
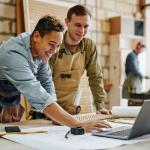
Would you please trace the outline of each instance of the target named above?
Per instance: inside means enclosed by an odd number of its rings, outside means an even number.
[[[49,61],[58,103],[71,114],[79,112],[79,107],[74,103],[85,69],[97,112],[110,113],[104,108],[106,94],[97,48],[91,39],[85,38],[90,20],[91,14],[84,6],[70,8],[65,19],[67,31],[63,43],[59,52]]]

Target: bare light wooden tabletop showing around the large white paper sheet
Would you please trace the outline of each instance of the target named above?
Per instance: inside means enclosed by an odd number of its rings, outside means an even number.
[[[0,124],[0,130],[3,131],[4,126],[8,126],[10,124]],[[29,120],[17,123],[11,123],[11,125],[19,125],[21,128],[31,128],[31,127],[39,127],[39,126],[51,126],[52,122],[50,120]],[[15,143],[9,141],[4,138],[0,138],[0,149],[1,150],[35,150],[34,148]],[[109,148],[108,150],[149,150],[150,149],[150,140],[139,142],[131,145],[123,145],[115,148]]]

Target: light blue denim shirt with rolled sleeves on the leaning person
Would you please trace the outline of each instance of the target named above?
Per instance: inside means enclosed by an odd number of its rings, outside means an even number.
[[[56,101],[48,62],[33,59],[28,33],[0,46],[0,80],[9,80],[37,111]]]

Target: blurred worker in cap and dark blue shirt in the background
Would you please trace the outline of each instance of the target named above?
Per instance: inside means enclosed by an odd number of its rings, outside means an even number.
[[[143,78],[149,79],[148,76],[143,76],[139,68],[138,55],[143,52],[145,45],[142,41],[137,42],[135,49],[128,54],[125,62],[126,79],[122,88],[122,97],[130,98],[131,93],[141,93]],[[141,105],[142,100],[128,100],[128,105]]]

